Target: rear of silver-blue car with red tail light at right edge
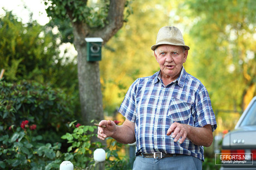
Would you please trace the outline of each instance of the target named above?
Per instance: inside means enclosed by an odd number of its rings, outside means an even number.
[[[215,154],[216,156],[216,154]],[[256,169],[256,96],[235,125],[223,137],[220,170]]]

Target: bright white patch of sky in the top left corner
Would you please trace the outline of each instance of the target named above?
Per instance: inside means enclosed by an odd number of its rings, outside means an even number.
[[[0,16],[4,15],[2,8],[12,11],[23,23],[28,22],[30,13],[33,13],[32,18],[41,25],[49,22],[45,11],[45,4],[41,0],[2,0],[0,3]]]

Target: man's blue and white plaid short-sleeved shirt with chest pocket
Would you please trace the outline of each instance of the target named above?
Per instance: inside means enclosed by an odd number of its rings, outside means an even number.
[[[185,139],[174,142],[166,133],[174,122],[194,127],[210,124],[216,129],[216,120],[208,91],[201,82],[181,70],[178,79],[165,86],[158,71],[152,76],[137,79],[127,91],[119,112],[135,122],[136,154],[176,153],[194,156],[204,161],[204,148]]]

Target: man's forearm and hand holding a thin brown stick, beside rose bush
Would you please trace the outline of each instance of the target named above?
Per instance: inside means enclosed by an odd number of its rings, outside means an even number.
[[[135,142],[135,123],[129,120],[121,126],[117,126],[114,121],[102,120],[99,126],[105,125],[106,127],[98,127],[98,138],[105,140],[106,137],[112,137],[120,143],[134,143]]]

